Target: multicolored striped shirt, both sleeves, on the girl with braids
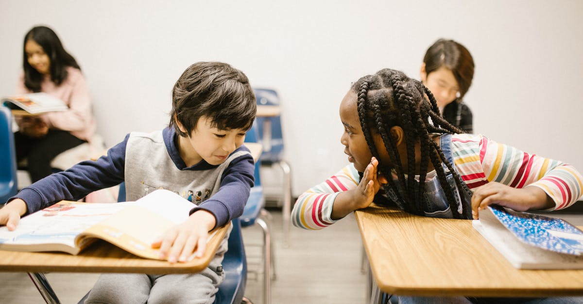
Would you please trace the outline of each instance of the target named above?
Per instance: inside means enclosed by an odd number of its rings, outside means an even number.
[[[537,186],[554,200],[552,210],[571,206],[583,194],[583,176],[563,162],[528,154],[482,135],[452,135],[451,150],[455,167],[470,189],[488,182],[514,188]],[[291,221],[305,229],[328,227],[335,222],[331,214],[338,193],[356,188],[359,181],[354,165],[347,165],[302,193],[291,211]]]

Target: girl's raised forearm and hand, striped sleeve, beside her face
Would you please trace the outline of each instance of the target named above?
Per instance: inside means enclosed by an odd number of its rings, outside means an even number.
[[[373,158],[360,182],[354,166],[347,165],[326,181],[302,193],[291,211],[294,226],[322,229],[354,210],[368,207],[380,188],[377,165],[378,161]],[[381,180],[385,182],[384,178]]]

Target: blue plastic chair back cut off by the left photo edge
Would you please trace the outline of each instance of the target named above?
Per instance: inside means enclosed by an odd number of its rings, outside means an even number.
[[[12,133],[10,109],[0,107],[0,205],[18,192],[16,181],[16,149]]]

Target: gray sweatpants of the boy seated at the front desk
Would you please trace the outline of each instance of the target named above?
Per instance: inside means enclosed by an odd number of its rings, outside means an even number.
[[[220,266],[227,251],[229,234],[230,229],[209,266],[199,273],[101,274],[85,304],[212,304],[215,302],[218,287],[224,280],[224,272]]]

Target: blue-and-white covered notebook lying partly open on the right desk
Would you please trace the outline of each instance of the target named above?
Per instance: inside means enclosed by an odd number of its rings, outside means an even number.
[[[516,268],[583,269],[583,232],[560,218],[489,206],[472,225]]]

